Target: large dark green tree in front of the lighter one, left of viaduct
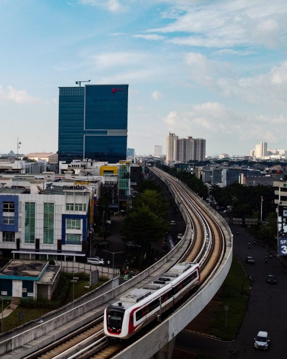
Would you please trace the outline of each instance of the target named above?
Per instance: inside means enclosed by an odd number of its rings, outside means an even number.
[[[151,242],[161,239],[169,228],[169,223],[142,204],[128,212],[121,223],[120,233],[125,241],[133,240],[140,244],[140,265],[142,265],[145,253],[148,255],[150,252]]]

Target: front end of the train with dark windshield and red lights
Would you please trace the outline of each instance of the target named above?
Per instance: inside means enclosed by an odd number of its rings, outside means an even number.
[[[104,332],[105,335],[119,338],[126,336],[125,329],[127,325],[125,322],[129,320],[129,313],[121,306],[110,306],[104,312]]]

